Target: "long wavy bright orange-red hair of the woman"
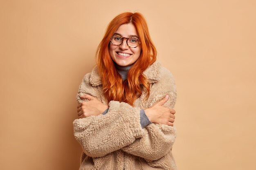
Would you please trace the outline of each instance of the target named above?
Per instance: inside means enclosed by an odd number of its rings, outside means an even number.
[[[127,79],[122,80],[117,72],[115,63],[110,57],[110,39],[118,27],[122,24],[132,23],[141,41],[141,54],[138,60],[128,71]],[[97,65],[102,79],[103,93],[106,100],[126,102],[133,106],[135,100],[141,96],[143,87],[147,90],[145,99],[150,94],[150,84],[143,72],[156,60],[157,51],[150,38],[148,26],[141,13],[121,13],[117,15],[109,24],[106,33],[101,40],[97,52]]]

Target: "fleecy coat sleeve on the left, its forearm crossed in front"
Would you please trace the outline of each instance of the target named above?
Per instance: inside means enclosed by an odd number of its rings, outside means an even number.
[[[83,101],[79,96],[89,94],[104,103],[104,97],[100,93],[98,88],[90,84],[89,73],[79,86],[77,99],[81,103]],[[110,101],[108,114],[74,120],[74,136],[86,155],[103,157],[132,144],[136,138],[144,135],[139,113],[139,108],[133,108],[127,103]]]

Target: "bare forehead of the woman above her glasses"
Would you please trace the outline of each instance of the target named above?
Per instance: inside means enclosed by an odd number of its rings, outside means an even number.
[[[119,33],[122,37],[138,36],[135,26],[131,23],[120,25],[115,33]]]

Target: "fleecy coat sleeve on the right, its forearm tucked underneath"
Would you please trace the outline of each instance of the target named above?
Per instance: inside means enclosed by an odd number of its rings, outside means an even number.
[[[162,95],[163,97],[168,94],[169,99],[164,106],[173,108],[176,101],[176,86],[173,75],[167,69],[162,70],[161,75],[162,77],[160,77],[159,81],[153,85],[161,88],[158,88],[157,91],[152,91],[152,93],[155,93],[154,95],[156,96]],[[155,102],[159,102],[163,97],[158,97]],[[155,104],[155,102],[151,103],[150,106]],[[149,161],[157,160],[171,150],[176,138],[175,126],[149,124],[143,130],[144,135],[142,137],[137,138],[132,144],[122,148],[122,150]]]

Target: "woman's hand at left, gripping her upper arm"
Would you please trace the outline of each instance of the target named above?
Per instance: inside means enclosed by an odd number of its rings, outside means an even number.
[[[91,95],[80,97],[81,99],[88,99],[88,101],[82,102],[77,106],[77,115],[79,118],[100,115],[108,108],[106,104],[101,103],[97,98]]]

